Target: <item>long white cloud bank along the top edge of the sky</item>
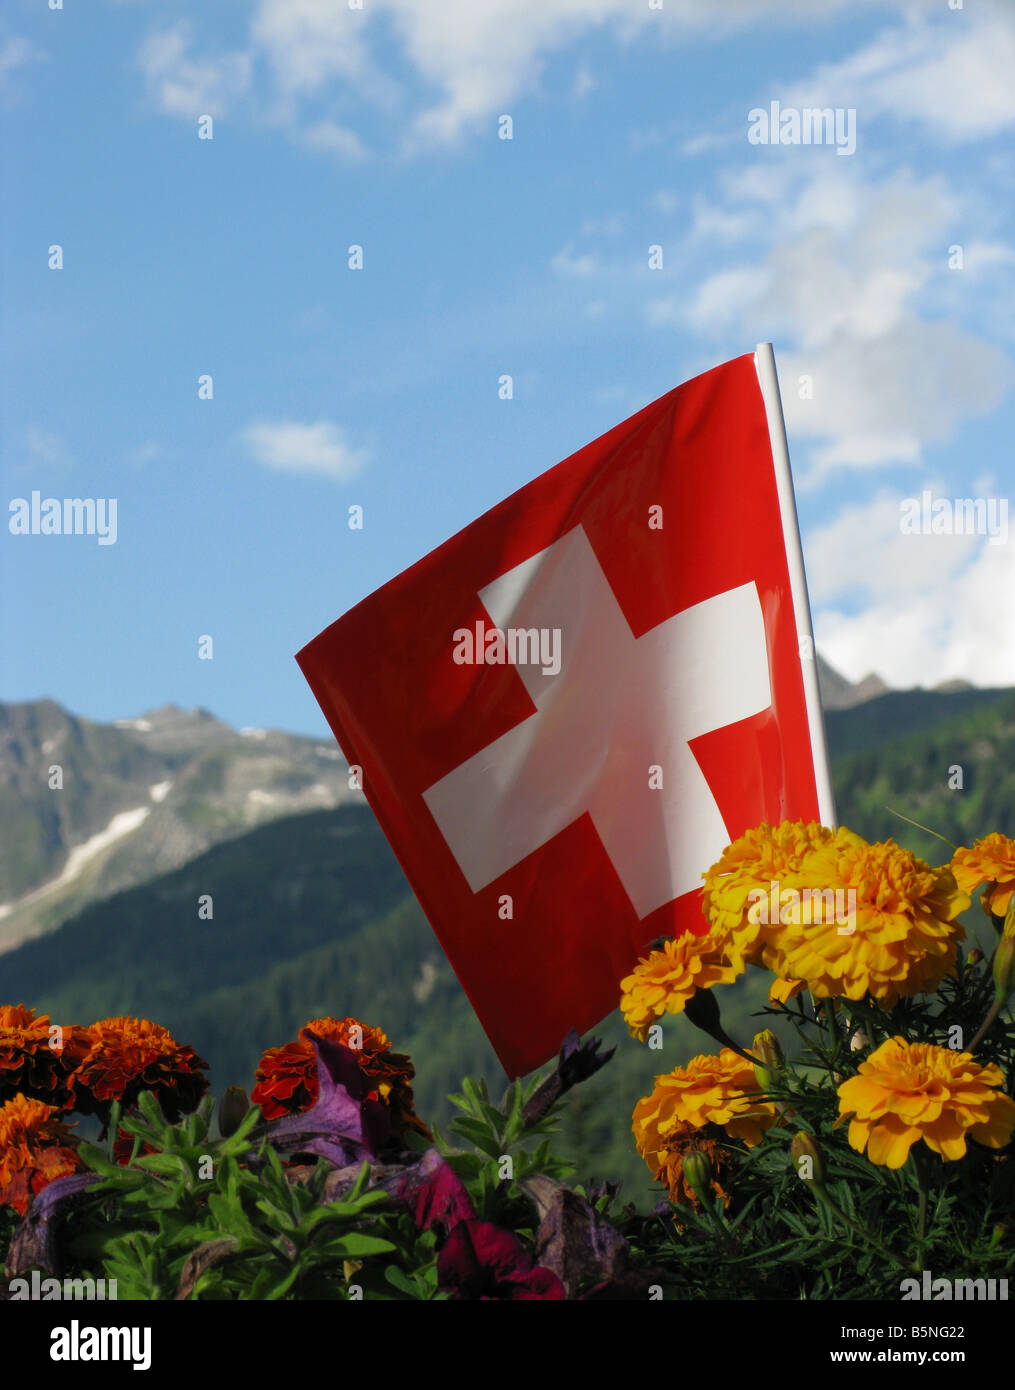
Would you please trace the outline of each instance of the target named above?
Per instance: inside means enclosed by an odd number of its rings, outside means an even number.
[[[852,10],[855,0],[666,0],[660,10],[631,0],[370,0],[363,10],[341,0],[257,0],[247,51],[190,58],[189,33],[181,35],[178,25],[153,35],[143,57],[160,104],[175,114],[192,114],[197,93],[211,110],[207,93],[224,101],[245,90],[254,57],[271,72],[261,110],[277,124],[302,124],[302,104],[311,99],[366,99],[389,110],[410,100],[405,143],[419,150],[455,142],[509,110],[538,88],[546,58],[596,31],[609,29],[619,43],[644,36],[679,43],[688,35],[715,39],[756,25],[798,24],[802,14],[813,24]],[[393,38],[407,79],[375,63],[378,38]],[[591,89],[580,64],[571,99]]]

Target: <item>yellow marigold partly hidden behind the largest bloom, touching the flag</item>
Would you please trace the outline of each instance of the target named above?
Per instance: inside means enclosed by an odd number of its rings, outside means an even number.
[[[777,923],[765,923],[751,912],[758,895],[770,885],[788,885],[808,851],[823,845],[831,831],[816,821],[784,820],[780,826],[758,826],[729,845],[712,865],[702,888],[701,905],[716,942],[730,955],[758,965],[762,947]],[[755,920],[756,919],[756,920]]]

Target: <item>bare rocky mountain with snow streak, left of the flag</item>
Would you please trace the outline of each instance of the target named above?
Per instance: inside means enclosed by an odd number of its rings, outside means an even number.
[[[0,952],[254,826],[350,801],[331,739],[175,705],[114,724],[0,705]]]

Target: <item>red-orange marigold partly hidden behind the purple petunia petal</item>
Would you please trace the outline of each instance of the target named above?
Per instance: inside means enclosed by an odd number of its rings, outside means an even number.
[[[389,1106],[396,1133],[410,1129],[424,1138],[432,1137],[413,1106],[410,1083],[416,1068],[412,1059],[405,1052],[392,1052],[381,1029],[353,1017],[311,1019],[293,1042],[267,1049],[257,1066],[257,1084],[250,1093],[250,1104],[260,1105],[264,1119],[299,1115],[317,1099],[317,1055],[307,1031],[355,1052],[360,1070],[373,1081],[367,1099],[384,1101]]]

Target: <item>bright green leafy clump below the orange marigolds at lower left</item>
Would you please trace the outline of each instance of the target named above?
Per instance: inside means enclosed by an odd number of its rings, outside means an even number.
[[[288,1179],[267,1138],[254,1158],[256,1106],[218,1140],[209,1137],[210,1098],[179,1125],[164,1120],[149,1093],[139,1108],[122,1120],[135,1136],[129,1166],[81,1147],[104,1182],[96,1208],[75,1222],[71,1254],[115,1279],[118,1298],[341,1300],[349,1295],[346,1261],[396,1248],[374,1218],[388,1198],[367,1190],[367,1165],[341,1201],[323,1204],[325,1159],[302,1184]],[[136,1156],[142,1143],[154,1152]]]

